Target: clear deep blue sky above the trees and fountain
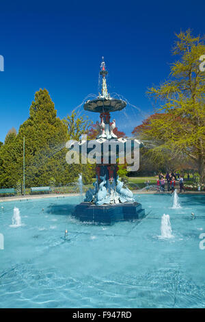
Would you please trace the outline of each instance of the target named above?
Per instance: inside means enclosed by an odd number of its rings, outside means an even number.
[[[115,114],[130,135],[153,112],[146,89],[163,81],[176,59],[174,32],[205,34],[204,1],[1,1],[0,9],[1,141],[28,118],[39,88],[49,90],[60,118],[98,94],[102,55],[109,92],[141,110]]]

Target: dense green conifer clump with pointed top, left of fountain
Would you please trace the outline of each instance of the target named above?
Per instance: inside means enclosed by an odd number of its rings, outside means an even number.
[[[26,186],[48,185],[59,163],[67,165],[65,145],[68,134],[64,123],[57,118],[54,103],[46,89],[36,92],[29,119],[20,125],[18,134],[10,133],[5,138],[5,144],[0,150],[0,186],[12,187],[19,181],[22,182],[23,138]],[[49,157],[56,149],[61,151],[61,158],[49,167]]]

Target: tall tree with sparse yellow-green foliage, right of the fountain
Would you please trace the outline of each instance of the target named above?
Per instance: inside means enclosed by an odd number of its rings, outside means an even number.
[[[152,160],[169,153],[169,160],[194,160],[204,181],[205,162],[205,72],[200,71],[200,56],[205,46],[200,36],[187,32],[176,34],[170,77],[148,89],[148,95],[160,104],[160,117],[150,119],[141,138],[152,140],[148,153]]]

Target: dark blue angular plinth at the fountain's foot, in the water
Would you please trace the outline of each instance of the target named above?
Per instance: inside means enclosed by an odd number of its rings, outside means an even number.
[[[114,203],[102,206],[82,202],[74,208],[72,216],[75,216],[80,221],[111,225],[118,221],[142,219],[145,216],[145,210],[141,208],[141,203],[137,202]]]

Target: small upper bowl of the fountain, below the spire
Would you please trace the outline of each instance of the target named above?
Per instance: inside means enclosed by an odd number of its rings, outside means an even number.
[[[90,112],[115,112],[120,111],[126,107],[126,102],[122,99],[105,99],[98,98],[92,101],[87,101],[84,104],[84,110]]]

